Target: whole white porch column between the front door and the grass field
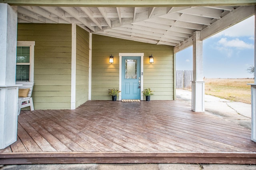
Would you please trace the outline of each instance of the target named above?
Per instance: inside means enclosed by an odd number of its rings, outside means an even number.
[[[204,112],[203,41],[200,31],[193,33],[192,111]]]

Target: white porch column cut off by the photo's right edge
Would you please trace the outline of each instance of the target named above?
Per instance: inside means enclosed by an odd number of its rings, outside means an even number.
[[[256,8],[255,12],[256,15]],[[254,21],[254,84],[251,85],[251,95],[252,95],[252,141],[256,142],[256,17]]]

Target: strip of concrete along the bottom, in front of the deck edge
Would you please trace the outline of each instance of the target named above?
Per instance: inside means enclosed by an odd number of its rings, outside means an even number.
[[[1,168],[2,167],[2,168]],[[7,165],[0,170],[255,170],[238,164],[39,164]]]

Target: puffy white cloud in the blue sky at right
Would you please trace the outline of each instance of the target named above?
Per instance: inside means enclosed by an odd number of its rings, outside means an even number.
[[[254,49],[253,44],[248,44],[238,38],[228,40],[227,38],[222,38],[218,41],[218,45],[222,45],[223,47],[235,47],[238,49]]]

